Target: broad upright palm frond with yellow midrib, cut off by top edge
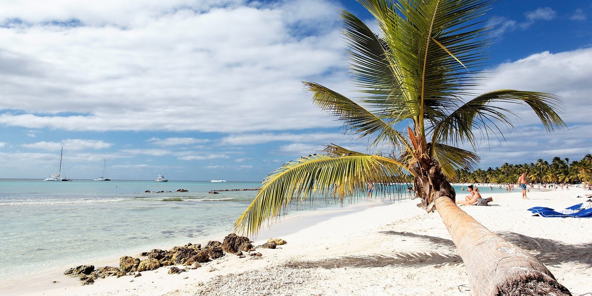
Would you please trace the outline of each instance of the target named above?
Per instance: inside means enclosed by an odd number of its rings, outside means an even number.
[[[478,78],[465,74],[484,65],[490,44],[484,37],[491,28],[472,28],[493,0],[359,2],[378,21],[407,99],[421,109],[414,120],[420,131],[423,119],[445,116],[478,86]]]

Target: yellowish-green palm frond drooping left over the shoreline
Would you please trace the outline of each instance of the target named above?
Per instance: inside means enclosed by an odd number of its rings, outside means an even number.
[[[263,180],[255,200],[235,223],[237,232],[256,233],[265,220],[278,217],[292,199],[312,194],[354,199],[369,181],[403,175],[405,166],[390,158],[358,154],[343,157],[310,155],[284,164]]]

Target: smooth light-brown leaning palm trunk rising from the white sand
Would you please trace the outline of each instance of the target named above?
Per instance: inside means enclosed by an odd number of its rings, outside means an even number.
[[[435,206],[465,263],[473,295],[571,295],[534,256],[489,231],[449,197],[437,197]]]

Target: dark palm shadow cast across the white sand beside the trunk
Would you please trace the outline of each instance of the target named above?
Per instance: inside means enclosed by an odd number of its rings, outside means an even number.
[[[456,246],[449,239],[437,236],[417,235],[410,232],[384,231],[385,235],[405,236],[430,243],[443,252],[400,252],[393,254],[351,255],[338,258],[327,258],[318,261],[290,261],[285,264],[290,268],[372,268],[385,266],[434,266],[440,268],[445,265],[461,265],[461,256],[456,252]],[[543,264],[562,264],[577,262],[592,266],[592,243],[569,245],[552,239],[531,238],[514,232],[497,233],[506,240],[516,244],[535,256]]]

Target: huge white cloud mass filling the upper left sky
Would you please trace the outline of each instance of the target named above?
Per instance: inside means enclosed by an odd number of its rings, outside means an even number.
[[[0,22],[26,24],[0,27],[0,110],[18,112],[2,113],[0,124],[204,132],[338,124],[306,103],[300,84],[342,70],[333,2],[14,2]],[[72,19],[82,25],[47,24]]]

